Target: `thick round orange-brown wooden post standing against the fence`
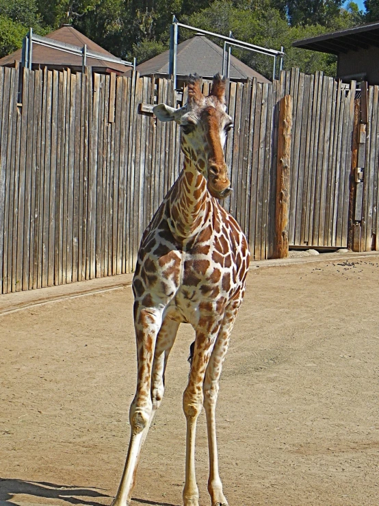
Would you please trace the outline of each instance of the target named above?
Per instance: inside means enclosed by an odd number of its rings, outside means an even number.
[[[276,167],[276,208],[274,258],[288,256],[289,168],[291,163],[292,97],[279,102],[278,163]]]

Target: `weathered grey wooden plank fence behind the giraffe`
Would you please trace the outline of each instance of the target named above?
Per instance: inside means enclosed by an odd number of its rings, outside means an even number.
[[[296,70],[273,84],[228,84],[235,128],[226,162],[235,191],[224,205],[255,259],[274,252],[285,94],[293,96],[289,244],[347,245],[354,86]],[[156,122],[148,105],[179,106],[185,95],[168,79],[138,74],[0,67],[0,293],[133,271],[142,232],[183,162],[177,125]],[[362,218],[350,224],[361,249],[379,246],[378,121],[378,88],[369,88],[365,180],[354,187],[354,218],[359,195]]]

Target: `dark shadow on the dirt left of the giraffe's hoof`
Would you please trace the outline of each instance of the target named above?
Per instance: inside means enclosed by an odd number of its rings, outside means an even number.
[[[30,503],[38,503],[36,498],[43,497],[55,500],[60,499],[73,505],[103,506],[104,503],[98,503],[94,499],[100,497],[110,498],[110,496],[99,492],[99,490],[96,488],[57,485],[56,483],[48,483],[46,481],[0,478],[0,506],[17,506],[13,502],[16,501],[14,496],[17,494],[30,496],[30,501],[28,501]]]

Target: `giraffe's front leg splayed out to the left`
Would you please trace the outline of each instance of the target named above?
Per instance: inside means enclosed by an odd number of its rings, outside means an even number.
[[[137,389],[129,411],[131,437],[124,472],[112,506],[128,506],[135,482],[138,459],[148,429],[151,425],[153,403],[151,400],[151,374],[155,340],[161,327],[162,315],[158,309],[140,307],[135,315],[138,376]]]

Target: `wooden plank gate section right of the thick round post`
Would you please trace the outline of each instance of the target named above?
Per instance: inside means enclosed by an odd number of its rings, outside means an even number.
[[[283,73],[293,97],[289,246],[348,246],[356,84]]]

